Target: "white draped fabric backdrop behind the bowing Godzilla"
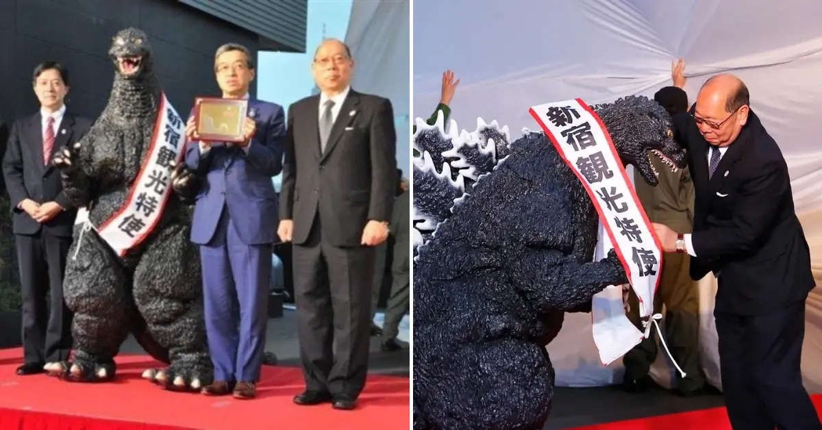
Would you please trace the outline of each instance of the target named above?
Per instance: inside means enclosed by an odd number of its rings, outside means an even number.
[[[481,3],[481,4],[480,4]],[[647,95],[671,85],[671,61],[685,58],[693,103],[718,72],[740,76],[751,108],[787,159],[797,213],[822,280],[822,2],[818,0],[415,0],[414,117],[427,118],[440,97],[441,74],[461,79],[451,104],[460,128],[477,117],[538,129],[530,106],[580,97],[589,104]],[[713,325],[716,281],[700,289],[700,355],[721,388]],[[598,359],[589,314],[569,314],[549,345],[561,386],[621,381],[621,362]],[[670,386],[664,351],[652,376]],[[822,289],[807,302],[802,372],[822,391]]]

